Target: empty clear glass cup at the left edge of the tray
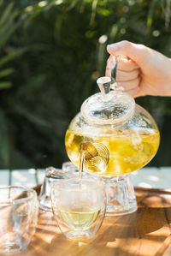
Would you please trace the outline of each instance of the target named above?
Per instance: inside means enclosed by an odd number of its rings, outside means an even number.
[[[0,187],[0,253],[17,253],[32,239],[38,220],[37,193],[31,188]]]

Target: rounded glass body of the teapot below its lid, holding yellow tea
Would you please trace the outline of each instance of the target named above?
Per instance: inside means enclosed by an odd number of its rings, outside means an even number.
[[[133,110],[125,117],[117,122],[106,123],[102,119],[102,122],[96,123],[86,118],[81,109],[66,133],[68,158],[79,167],[80,146],[90,142],[100,156],[100,159],[95,159],[94,165],[90,165],[88,160],[85,164],[84,170],[93,175],[122,176],[148,164],[160,142],[156,122],[138,104],[134,104]]]

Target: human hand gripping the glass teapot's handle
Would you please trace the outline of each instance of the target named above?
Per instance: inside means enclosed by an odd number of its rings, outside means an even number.
[[[128,41],[108,45],[107,51],[110,57],[106,75],[111,75],[115,65],[112,56],[121,56],[116,80],[133,97],[171,96],[171,60],[168,57]]]

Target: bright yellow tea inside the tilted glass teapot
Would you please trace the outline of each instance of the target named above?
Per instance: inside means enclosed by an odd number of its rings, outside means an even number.
[[[107,148],[103,152],[103,156],[107,154],[103,164],[98,169],[89,169],[87,164],[85,171],[101,176],[121,176],[139,170],[150,162],[158,149],[160,135],[158,130],[151,128],[125,130],[115,134],[112,130],[107,134],[77,134],[68,130],[65,137],[66,150],[70,160],[77,166],[80,162],[80,146],[85,142],[91,142],[96,147],[93,149],[96,153],[94,157],[97,157],[100,145]]]

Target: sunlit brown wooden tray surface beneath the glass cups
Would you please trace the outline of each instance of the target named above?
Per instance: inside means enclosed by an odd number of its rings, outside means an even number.
[[[138,211],[105,217],[91,241],[69,241],[50,212],[39,211],[38,226],[27,251],[15,256],[171,255],[171,192],[135,188]]]

